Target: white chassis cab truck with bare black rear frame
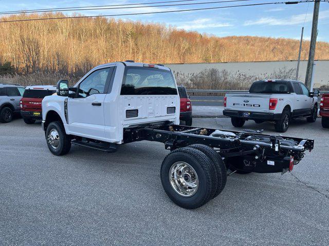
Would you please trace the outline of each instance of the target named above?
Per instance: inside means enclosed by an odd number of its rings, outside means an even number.
[[[114,152],[134,141],[162,142],[171,151],[161,165],[163,189],[186,209],[220,194],[228,173],[285,173],[313,149],[312,139],[180,126],[179,108],[169,68],[118,62],[92,69],[74,87],[58,81],[57,93],[42,101],[42,127],[54,155],[72,144]]]

